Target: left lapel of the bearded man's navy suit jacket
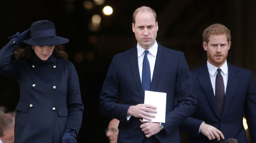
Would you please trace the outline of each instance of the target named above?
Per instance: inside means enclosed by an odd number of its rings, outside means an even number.
[[[203,89],[203,92],[209,102],[209,104],[211,105],[214,113],[218,116],[218,118],[220,119],[220,114],[218,111],[218,107],[217,107],[217,103],[216,103],[216,99],[214,96],[214,92],[213,92],[213,88],[212,88],[212,84],[211,84],[211,79],[209,76],[209,71],[207,68],[207,64],[205,64],[203,67],[201,67],[201,69],[198,72],[198,80],[199,83]]]

